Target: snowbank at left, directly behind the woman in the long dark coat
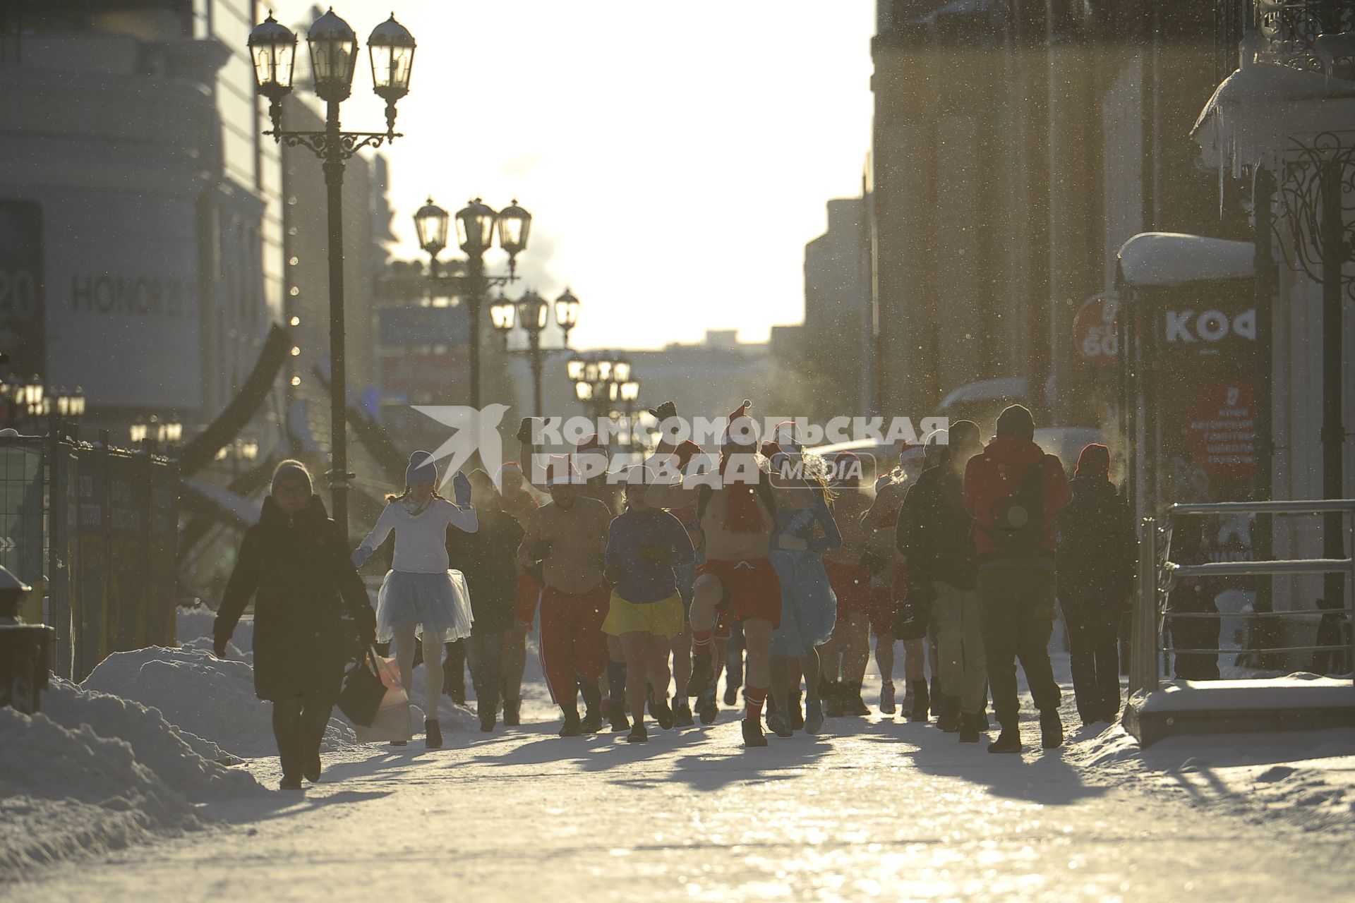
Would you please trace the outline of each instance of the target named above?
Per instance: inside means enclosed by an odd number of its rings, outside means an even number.
[[[114,653],[81,688],[160,709],[180,732],[205,738],[230,755],[276,755],[272,705],[255,696],[253,669],[245,661],[215,658],[210,644],[196,639],[179,648]],[[331,719],[321,749],[332,751],[354,739],[351,727]]]

